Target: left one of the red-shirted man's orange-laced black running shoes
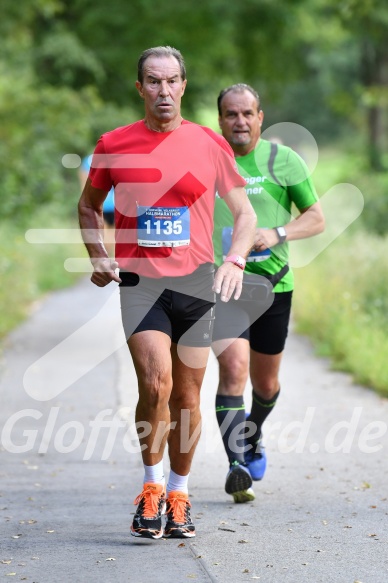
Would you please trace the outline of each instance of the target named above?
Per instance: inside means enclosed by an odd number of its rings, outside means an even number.
[[[143,492],[133,503],[138,504],[138,507],[131,525],[132,536],[161,538],[163,536],[162,515],[166,511],[163,484],[145,483]]]

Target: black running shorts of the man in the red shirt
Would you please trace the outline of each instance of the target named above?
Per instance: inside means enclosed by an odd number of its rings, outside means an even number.
[[[183,346],[210,346],[214,326],[213,264],[190,275],[159,279],[120,271],[124,332],[158,330]]]

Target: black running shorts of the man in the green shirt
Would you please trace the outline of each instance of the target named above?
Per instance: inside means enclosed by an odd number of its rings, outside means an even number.
[[[262,354],[283,352],[288,335],[292,291],[271,294],[273,303],[230,300],[217,297],[213,340],[245,338],[252,350]]]

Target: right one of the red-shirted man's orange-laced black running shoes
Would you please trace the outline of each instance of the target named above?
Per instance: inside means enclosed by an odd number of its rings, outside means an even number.
[[[164,536],[171,538],[192,538],[195,526],[190,517],[189,497],[184,492],[169,492],[167,497],[167,522]]]

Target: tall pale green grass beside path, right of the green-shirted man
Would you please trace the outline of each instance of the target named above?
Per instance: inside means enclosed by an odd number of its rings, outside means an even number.
[[[342,235],[295,270],[298,332],[336,369],[388,396],[388,237]]]

